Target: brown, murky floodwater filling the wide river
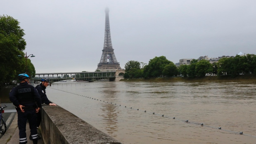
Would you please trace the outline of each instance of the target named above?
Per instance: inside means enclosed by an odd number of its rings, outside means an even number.
[[[124,144],[256,144],[255,87],[255,80],[73,82],[46,93]]]

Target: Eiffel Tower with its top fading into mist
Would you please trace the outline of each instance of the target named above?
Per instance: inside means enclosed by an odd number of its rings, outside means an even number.
[[[119,62],[116,60],[114,49],[112,47],[111,35],[110,35],[110,24],[109,24],[109,9],[105,9],[105,38],[104,46],[102,50],[102,56],[100,63],[98,64],[97,70],[100,71],[116,71],[121,69]]]

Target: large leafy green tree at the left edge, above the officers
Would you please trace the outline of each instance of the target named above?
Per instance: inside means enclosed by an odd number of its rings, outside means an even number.
[[[18,55],[24,55],[26,42],[19,21],[10,16],[0,16],[0,83],[17,79],[24,73],[24,64]]]

